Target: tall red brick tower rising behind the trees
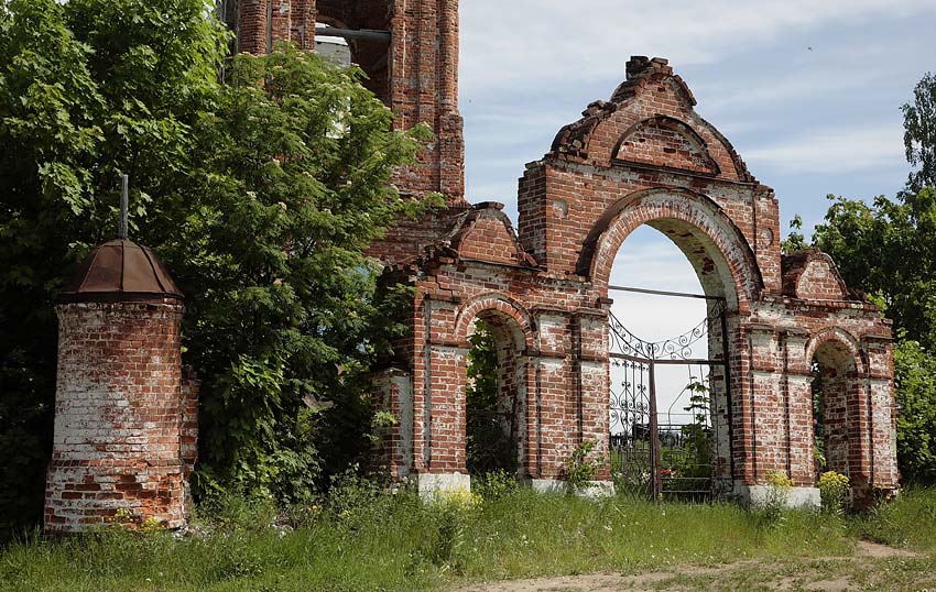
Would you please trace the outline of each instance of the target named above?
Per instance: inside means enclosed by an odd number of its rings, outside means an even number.
[[[426,123],[436,135],[417,166],[398,173],[400,191],[438,191],[467,208],[458,0],[221,0],[218,11],[236,33],[237,52],[266,53],[277,41],[314,51],[316,35],[344,40],[366,86],[393,111],[394,127]]]

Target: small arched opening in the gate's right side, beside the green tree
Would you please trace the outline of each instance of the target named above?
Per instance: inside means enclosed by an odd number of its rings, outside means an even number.
[[[852,446],[857,390],[860,380],[855,355],[841,341],[821,342],[813,353],[813,451],[816,476],[825,471],[855,475],[860,462],[858,442]]]

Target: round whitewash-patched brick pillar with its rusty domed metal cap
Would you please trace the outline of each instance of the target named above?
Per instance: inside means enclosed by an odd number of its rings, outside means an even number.
[[[58,375],[45,528],[186,520],[182,294],[149,250],[111,241],[56,307]]]

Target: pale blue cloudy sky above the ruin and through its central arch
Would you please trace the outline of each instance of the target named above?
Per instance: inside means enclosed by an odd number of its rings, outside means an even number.
[[[903,187],[900,107],[936,72],[936,0],[462,0],[460,13],[467,197],[505,204],[514,222],[524,164],[610,97],[631,55],[670,59],[699,114],[775,189],[784,235],[797,213],[808,235],[828,194]],[[628,238],[613,277],[701,290],[649,228]],[[613,296],[614,314],[646,339],[682,333],[704,314],[693,302]]]

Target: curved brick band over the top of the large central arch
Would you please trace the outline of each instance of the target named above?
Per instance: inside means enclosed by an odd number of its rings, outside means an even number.
[[[675,221],[694,235],[705,256],[716,264],[725,288],[720,295],[729,306],[747,307],[759,298],[763,278],[743,233],[718,204],[687,189],[635,191],[611,205],[586,238],[577,273],[589,277],[599,289],[607,288],[621,244],[638,227],[655,221]],[[679,246],[685,252],[684,245]],[[695,256],[686,255],[690,261]]]

